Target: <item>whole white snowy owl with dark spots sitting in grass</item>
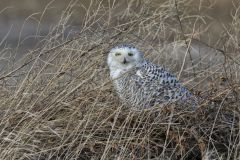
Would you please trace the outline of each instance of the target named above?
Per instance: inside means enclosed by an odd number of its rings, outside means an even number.
[[[107,63],[114,87],[125,104],[138,109],[172,102],[197,105],[195,96],[173,74],[144,59],[134,46],[112,48]]]

